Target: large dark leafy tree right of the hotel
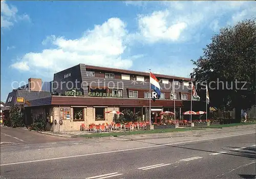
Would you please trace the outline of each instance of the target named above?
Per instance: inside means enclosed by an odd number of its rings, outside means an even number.
[[[196,65],[191,75],[200,83],[197,88],[204,86],[199,94],[205,96],[207,81],[211,105],[235,108],[237,120],[241,120],[241,109],[255,105],[255,22],[255,18],[246,19],[220,29],[203,49],[204,55],[191,60]]]

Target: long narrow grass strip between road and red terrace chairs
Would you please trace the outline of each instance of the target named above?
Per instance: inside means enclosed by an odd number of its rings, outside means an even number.
[[[201,130],[198,128],[169,128],[169,129],[155,129],[155,130],[136,130],[127,132],[109,132],[109,133],[91,133],[88,135],[80,135],[77,137],[93,138],[93,137],[109,137],[109,136],[122,136],[122,135],[139,135],[139,134],[150,134],[150,133],[164,133],[164,132],[179,132],[187,130]]]

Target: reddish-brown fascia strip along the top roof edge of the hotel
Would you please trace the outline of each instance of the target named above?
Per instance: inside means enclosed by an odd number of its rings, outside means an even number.
[[[86,65],[86,69],[93,69],[93,70],[101,70],[101,71],[110,71],[110,72],[119,72],[119,73],[126,73],[126,74],[135,74],[135,75],[142,75],[142,76],[149,76],[146,72],[138,72],[138,71],[132,71],[132,70],[122,70],[122,69],[114,69],[114,68],[106,68],[101,66],[92,66],[92,65]],[[159,78],[170,78],[170,79],[179,79],[179,80],[185,80],[190,81],[190,78],[184,78],[184,77],[177,77],[177,76],[169,76],[169,75],[161,75],[161,74],[155,74],[156,77]]]

